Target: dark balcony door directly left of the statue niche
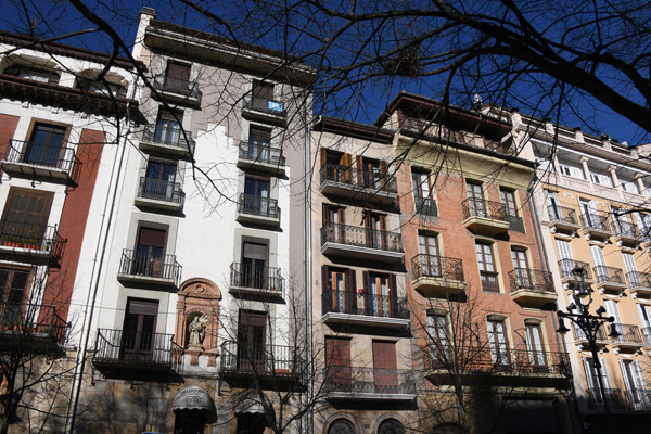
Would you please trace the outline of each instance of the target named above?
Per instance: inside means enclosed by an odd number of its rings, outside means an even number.
[[[154,332],[158,302],[152,299],[128,298],[127,312],[122,336],[122,359],[136,362],[149,362],[154,355]],[[154,360],[155,361],[155,360]]]

